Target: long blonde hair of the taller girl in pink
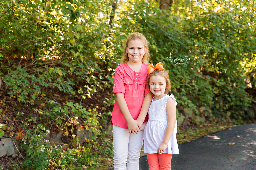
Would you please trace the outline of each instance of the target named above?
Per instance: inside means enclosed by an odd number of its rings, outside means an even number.
[[[150,60],[150,55],[149,55],[149,48],[148,48],[148,42],[147,42],[147,39],[146,37],[141,34],[141,33],[131,33],[128,35],[126,41],[125,41],[125,47],[124,47],[124,50],[123,50],[123,56],[122,58],[120,59],[120,64],[125,64],[129,61],[129,57],[128,57],[128,54],[126,53],[126,48],[128,47],[128,43],[131,41],[131,40],[140,40],[143,44],[144,44],[144,47],[146,49],[146,53],[144,54],[143,58],[142,58],[142,63],[145,63],[145,64],[149,64],[151,63],[151,60]]]

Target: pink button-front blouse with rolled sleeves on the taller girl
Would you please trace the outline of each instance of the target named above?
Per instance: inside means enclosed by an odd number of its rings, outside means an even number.
[[[144,96],[149,93],[146,86],[148,66],[149,65],[143,63],[140,72],[133,71],[127,63],[120,64],[116,68],[113,93],[124,93],[124,99],[134,120],[139,117]],[[146,120],[147,118],[145,118],[144,122]],[[112,125],[113,124],[128,129],[127,122],[116,100],[112,112]]]

